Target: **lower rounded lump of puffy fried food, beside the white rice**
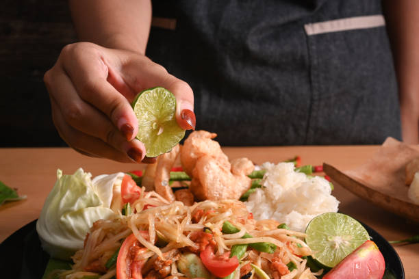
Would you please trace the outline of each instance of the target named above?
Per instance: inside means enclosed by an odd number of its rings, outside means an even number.
[[[247,177],[247,174],[253,170],[253,163],[249,159],[240,160],[243,161],[236,165],[236,174],[233,174],[231,168],[226,168],[225,164],[213,157],[206,155],[199,157],[196,160],[189,187],[195,198],[197,200],[238,200],[251,186],[251,178]],[[249,163],[252,168],[249,168]],[[240,168],[240,165],[245,168]]]

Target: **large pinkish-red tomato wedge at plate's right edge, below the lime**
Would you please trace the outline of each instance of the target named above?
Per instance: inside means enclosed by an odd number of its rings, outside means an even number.
[[[367,240],[333,267],[323,279],[381,279],[384,269],[383,254],[374,241]]]

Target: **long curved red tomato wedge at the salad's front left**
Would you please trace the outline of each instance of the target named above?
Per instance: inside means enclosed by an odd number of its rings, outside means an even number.
[[[140,232],[142,237],[148,238],[149,232],[146,230]],[[141,268],[145,260],[136,261],[136,254],[145,249],[136,239],[134,234],[125,239],[120,246],[118,258],[116,259],[116,278],[117,279],[142,279]]]

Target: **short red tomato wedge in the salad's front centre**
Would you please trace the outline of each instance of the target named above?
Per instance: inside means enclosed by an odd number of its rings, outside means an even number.
[[[218,278],[228,276],[236,270],[239,265],[237,256],[233,256],[232,258],[229,257],[230,252],[227,252],[222,256],[216,256],[214,254],[213,245],[207,245],[207,248],[205,248],[199,256],[205,267]]]

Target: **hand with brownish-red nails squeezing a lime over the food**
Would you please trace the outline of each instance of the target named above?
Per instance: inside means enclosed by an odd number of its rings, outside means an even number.
[[[144,55],[89,42],[68,44],[45,73],[53,122],[78,152],[120,162],[152,162],[136,139],[138,121],[130,103],[138,92],[162,86],[177,100],[176,118],[194,129],[194,97],[188,83]]]

